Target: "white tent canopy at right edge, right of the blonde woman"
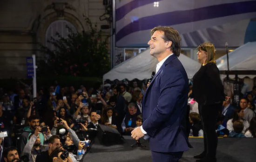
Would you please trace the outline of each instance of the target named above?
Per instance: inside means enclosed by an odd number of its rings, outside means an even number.
[[[219,70],[228,70],[227,55],[216,60]],[[229,53],[229,70],[256,70],[256,42],[249,42]],[[254,78],[256,75],[238,75],[239,78]],[[230,75],[230,78],[234,78]]]

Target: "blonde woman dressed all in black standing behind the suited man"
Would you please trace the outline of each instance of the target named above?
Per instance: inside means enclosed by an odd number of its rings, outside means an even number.
[[[215,62],[215,47],[211,43],[198,46],[197,58],[202,66],[193,77],[193,95],[198,103],[200,118],[203,125],[204,151],[194,158],[196,162],[216,162],[218,138],[216,121],[222,109],[224,90],[219,69]]]

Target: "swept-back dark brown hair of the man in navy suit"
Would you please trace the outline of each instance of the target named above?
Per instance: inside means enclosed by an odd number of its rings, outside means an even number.
[[[163,31],[163,40],[171,41],[172,45],[170,46],[170,50],[178,57],[181,53],[181,37],[177,30],[170,26],[156,26],[154,29],[151,30],[151,36],[154,34],[155,31]]]

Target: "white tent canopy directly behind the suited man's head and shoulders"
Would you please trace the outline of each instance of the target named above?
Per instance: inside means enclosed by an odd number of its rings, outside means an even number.
[[[189,79],[193,78],[197,70],[201,67],[199,62],[181,54],[179,60],[182,62]],[[153,71],[155,71],[158,60],[150,56],[149,49],[144,50],[139,55],[122,62],[108,73],[103,75],[103,81],[109,79],[111,81],[118,79],[128,79],[129,81],[137,78],[143,80],[150,78]]]

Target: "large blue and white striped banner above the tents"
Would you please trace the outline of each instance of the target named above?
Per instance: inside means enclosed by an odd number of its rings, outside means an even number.
[[[118,47],[148,46],[150,30],[158,25],[177,29],[182,47],[224,47],[225,41],[237,47],[256,41],[255,24],[256,0],[116,0]]]

